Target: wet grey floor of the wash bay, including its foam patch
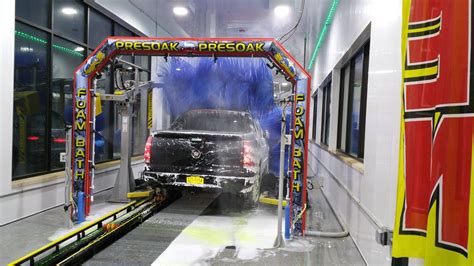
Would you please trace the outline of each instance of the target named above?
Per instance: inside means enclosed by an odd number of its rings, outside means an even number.
[[[97,216],[117,208],[98,197]],[[217,199],[216,199],[217,198]],[[318,189],[309,192],[312,230],[341,230]],[[250,210],[217,194],[185,194],[88,260],[85,265],[365,265],[350,237],[294,238],[273,248],[275,206]],[[0,265],[65,233],[64,211],[55,208],[0,227]]]

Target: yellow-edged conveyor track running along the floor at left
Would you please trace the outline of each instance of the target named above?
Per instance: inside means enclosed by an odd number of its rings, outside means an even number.
[[[65,236],[11,262],[9,265],[77,265],[120,238],[176,199],[151,195],[88,223]]]

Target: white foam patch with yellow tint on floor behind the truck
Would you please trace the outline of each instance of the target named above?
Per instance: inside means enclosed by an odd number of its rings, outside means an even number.
[[[208,265],[226,248],[235,260],[253,260],[273,248],[276,229],[277,216],[265,209],[199,216],[152,265]]]

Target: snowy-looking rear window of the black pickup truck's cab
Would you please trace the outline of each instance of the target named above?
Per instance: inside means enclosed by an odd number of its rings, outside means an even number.
[[[173,130],[199,130],[219,132],[250,132],[252,122],[248,115],[228,111],[190,111],[171,125]]]

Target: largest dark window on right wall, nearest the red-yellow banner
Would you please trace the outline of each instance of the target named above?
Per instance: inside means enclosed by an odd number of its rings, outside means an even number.
[[[365,44],[341,70],[337,147],[364,158],[369,47]]]

